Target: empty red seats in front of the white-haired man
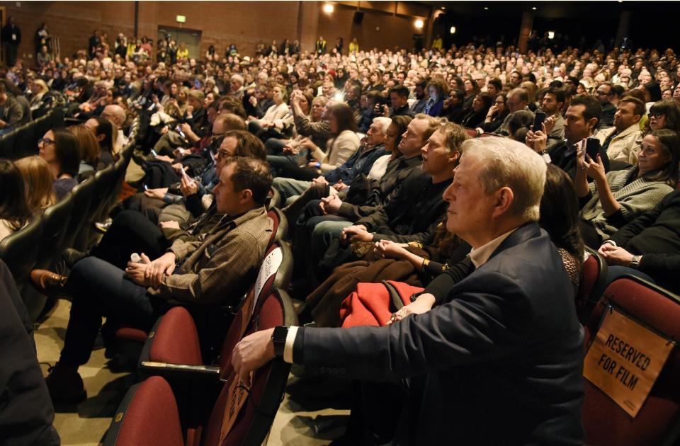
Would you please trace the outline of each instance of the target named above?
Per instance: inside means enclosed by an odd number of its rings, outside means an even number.
[[[283,398],[290,365],[273,360],[249,389],[231,365],[234,345],[249,333],[296,325],[284,291],[293,270],[285,217],[270,210],[271,246],[256,280],[234,307],[176,302],[145,336],[137,370],[146,379],[130,388],[104,445],[261,445]],[[124,328],[131,334],[132,328]],[[118,331],[120,336],[120,330]]]

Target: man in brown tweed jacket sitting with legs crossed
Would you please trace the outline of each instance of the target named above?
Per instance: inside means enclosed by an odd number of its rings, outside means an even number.
[[[172,301],[220,304],[243,295],[273,230],[263,206],[271,181],[264,161],[234,156],[215,186],[217,212],[225,217],[208,233],[175,241],[154,261],[142,253],[125,271],[96,257],[74,265],[65,285],[73,303],[64,348],[46,378],[53,401],[85,398],[78,367],[89,360],[102,316],[148,330]]]

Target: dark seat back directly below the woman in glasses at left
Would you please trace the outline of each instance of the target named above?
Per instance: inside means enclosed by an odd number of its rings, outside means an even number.
[[[74,195],[67,193],[60,202],[47,207],[42,215],[42,236],[36,268],[50,269],[61,258],[64,251],[64,239],[66,238],[71,221],[74,205]]]

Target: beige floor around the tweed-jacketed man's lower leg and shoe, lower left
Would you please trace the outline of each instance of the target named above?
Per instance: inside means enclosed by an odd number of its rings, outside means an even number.
[[[55,365],[64,345],[64,335],[71,312],[71,302],[60,299],[45,321],[35,328],[35,345],[42,374]],[[103,437],[125,391],[133,384],[129,373],[113,373],[106,367],[103,348],[95,350],[79,372],[88,398],[77,406],[58,406],[55,428],[62,445],[96,446]]]

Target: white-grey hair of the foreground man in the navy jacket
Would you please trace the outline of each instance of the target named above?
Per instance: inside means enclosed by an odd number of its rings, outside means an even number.
[[[463,156],[484,161],[477,172],[486,195],[500,188],[512,190],[510,212],[530,222],[538,222],[540,198],[545,187],[545,161],[524,144],[501,137],[467,139]]]

